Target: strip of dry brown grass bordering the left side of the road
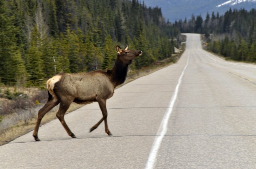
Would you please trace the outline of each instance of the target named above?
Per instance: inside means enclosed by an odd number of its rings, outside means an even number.
[[[182,46],[182,52],[181,53],[174,55],[174,59],[178,60],[180,58],[180,56],[182,55],[183,51],[184,51],[184,46]],[[133,72],[133,74],[128,74],[128,77],[127,77],[126,81],[124,82],[124,84],[126,84],[128,82],[131,82],[132,80],[135,80],[139,77],[146,76],[146,75],[148,75],[152,72],[160,70],[160,69],[162,69],[162,68],[164,68],[168,65],[171,65],[171,64],[174,64],[174,62],[172,62],[172,60],[165,59],[164,61],[159,61],[159,62],[155,63],[152,66],[143,68],[143,69],[141,69],[139,71],[136,71],[136,72]],[[121,87],[121,86],[119,86],[119,87]],[[37,93],[37,90],[35,90],[35,89],[26,89],[26,92],[29,95],[31,95],[33,93],[34,94]],[[34,99],[34,101],[35,101],[35,99]],[[72,111],[74,111],[74,110],[76,110],[76,109],[78,109],[82,106],[84,106],[84,105],[79,105],[79,104],[72,103],[71,106],[69,107],[69,109],[67,110],[67,113],[72,112]],[[56,108],[54,108],[48,114],[46,114],[44,116],[44,118],[42,119],[41,124],[48,123],[49,121],[55,119],[57,110],[58,110],[58,108],[56,106]],[[14,114],[9,114],[7,116],[4,116],[4,118],[14,118]],[[8,142],[12,141],[13,139],[15,139],[15,138],[17,138],[21,135],[24,135],[25,133],[28,133],[29,131],[32,131],[35,127],[35,121],[36,121],[36,116],[35,115],[30,115],[30,118],[27,118],[25,120],[20,120],[15,125],[9,127],[4,132],[0,133],[0,146],[3,145],[3,144],[7,144]]]

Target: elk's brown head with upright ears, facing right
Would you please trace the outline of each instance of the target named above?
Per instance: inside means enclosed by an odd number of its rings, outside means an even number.
[[[121,61],[127,65],[132,63],[132,59],[142,55],[142,51],[128,50],[128,46],[121,49],[121,47],[117,45],[115,50],[117,51],[117,58],[121,59]]]

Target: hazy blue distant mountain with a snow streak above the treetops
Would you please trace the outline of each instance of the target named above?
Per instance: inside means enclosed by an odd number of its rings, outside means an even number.
[[[256,8],[256,0],[144,0],[146,6],[161,7],[163,16],[166,21],[174,22],[179,19],[191,18],[191,15],[201,15],[205,19],[207,11],[211,15],[223,14],[229,8],[245,8],[251,10]]]

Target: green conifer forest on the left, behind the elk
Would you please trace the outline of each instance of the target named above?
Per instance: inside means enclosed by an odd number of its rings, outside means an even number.
[[[138,0],[0,0],[0,82],[41,87],[59,72],[110,69],[116,45],[143,51],[140,69],[171,57],[179,33]]]

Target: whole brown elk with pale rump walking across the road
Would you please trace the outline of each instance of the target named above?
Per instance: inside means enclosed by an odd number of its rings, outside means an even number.
[[[67,134],[72,138],[76,138],[64,120],[65,112],[72,102],[89,104],[97,101],[103,117],[91,127],[90,132],[95,130],[104,120],[105,132],[108,135],[112,135],[108,129],[106,100],[113,96],[115,87],[124,83],[128,72],[128,65],[132,63],[132,59],[142,55],[142,51],[128,50],[128,46],[121,49],[117,45],[116,51],[117,59],[111,70],[106,72],[95,70],[93,72],[77,74],[60,73],[47,81],[48,101],[38,112],[33,133],[35,141],[40,141],[37,133],[43,116],[58,104],[60,104],[60,107],[56,113],[57,118],[67,131]]]

